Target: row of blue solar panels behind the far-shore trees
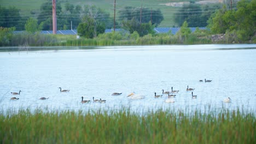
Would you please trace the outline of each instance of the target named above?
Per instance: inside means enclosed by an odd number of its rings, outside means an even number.
[[[156,27],[154,28],[154,31],[156,33],[168,33],[171,32],[172,34],[176,34],[179,31],[179,27]],[[196,30],[196,27],[190,27],[191,32],[194,32]],[[199,29],[206,29],[206,27],[199,27]],[[105,29],[105,33],[110,33],[114,31],[114,29]],[[122,28],[116,28],[116,32],[127,32]],[[14,31],[14,33],[22,33],[24,31]],[[40,33],[42,34],[52,34],[53,31],[41,31]],[[72,29],[72,30],[59,30],[57,31],[57,34],[63,34],[63,35],[77,35],[77,29]]]

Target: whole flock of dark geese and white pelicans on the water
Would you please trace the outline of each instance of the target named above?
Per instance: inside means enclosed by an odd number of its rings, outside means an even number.
[[[203,82],[203,80],[199,80],[199,82]],[[205,79],[205,82],[212,82],[212,80],[206,80]],[[59,87],[60,89],[60,92],[69,92],[69,90],[66,90],[66,89],[61,89],[61,87]],[[195,90],[195,88],[189,88],[189,86],[187,86],[187,89],[186,91],[191,91],[191,97],[193,99],[196,99],[197,98],[197,95],[194,95],[193,94],[193,91]],[[16,93],[16,92],[11,92],[11,94],[13,95],[20,95],[20,92],[19,93]],[[173,90],[173,87],[172,87],[172,91],[171,92],[168,92],[168,91],[164,91],[164,89],[162,89],[162,94],[161,95],[156,95],[156,92],[155,92],[155,98],[160,98],[162,97],[162,95],[164,94],[168,94],[168,99],[165,100],[165,103],[174,103],[175,100],[173,98],[176,97],[176,93],[178,93],[179,91],[177,90]],[[112,95],[121,95],[122,93],[112,93]],[[127,97],[131,97],[131,99],[143,99],[144,98],[144,95],[140,95],[140,94],[136,94],[135,92],[132,92],[130,93],[129,95],[127,95]],[[90,103],[91,100],[84,100],[84,97],[81,97],[82,98],[82,101],[81,103]],[[16,97],[13,97],[11,98],[11,100],[18,100],[19,98],[16,98]],[[45,97],[42,97],[40,98],[39,100],[46,100],[46,99],[49,99],[49,98],[45,98]],[[94,102],[98,102],[98,103],[106,103],[106,100],[102,100],[101,98],[100,99],[94,99],[94,97],[92,98],[92,100]],[[228,97],[226,99],[223,100],[225,103],[229,103],[231,101],[231,99]]]

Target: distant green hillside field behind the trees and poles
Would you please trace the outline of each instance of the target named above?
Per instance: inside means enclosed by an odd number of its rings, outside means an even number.
[[[50,0],[51,1],[51,0]],[[218,0],[212,0],[212,1],[200,1],[200,2],[209,2],[211,4],[212,2],[219,2]],[[40,5],[42,3],[46,2],[46,0],[0,0],[0,4],[2,7],[9,7],[14,6],[21,10],[22,16],[34,16],[30,14],[30,11],[33,11],[36,13],[36,15],[39,14]],[[66,2],[73,3],[74,5],[87,5],[92,4],[96,5],[97,7],[100,7],[110,13],[110,15],[113,17],[114,15],[114,0],[89,0],[89,1],[82,1],[82,0],[57,0],[57,3],[65,4]],[[188,2],[188,1],[179,1],[179,0],[116,0],[116,9],[119,10],[121,8],[124,8],[125,6],[132,6],[132,7],[141,7],[141,4],[143,7],[152,8],[152,9],[160,9],[162,11],[162,14],[164,15],[164,21],[161,22],[159,27],[173,27],[174,26],[174,15],[176,11],[180,7],[172,7],[170,5],[173,5],[171,3],[174,2]],[[118,16],[118,11],[117,11]]]

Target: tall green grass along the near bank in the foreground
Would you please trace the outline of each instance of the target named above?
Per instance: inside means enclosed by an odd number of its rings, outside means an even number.
[[[110,111],[110,112],[109,112]],[[129,110],[0,114],[1,143],[255,143],[254,113]]]

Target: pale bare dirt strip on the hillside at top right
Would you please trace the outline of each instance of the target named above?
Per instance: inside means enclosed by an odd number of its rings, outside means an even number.
[[[196,4],[215,4],[215,3],[223,3],[223,0],[208,0],[208,1],[199,1],[195,3]],[[189,2],[160,3],[160,5],[166,5],[170,7],[182,7],[184,4],[189,4]]]

